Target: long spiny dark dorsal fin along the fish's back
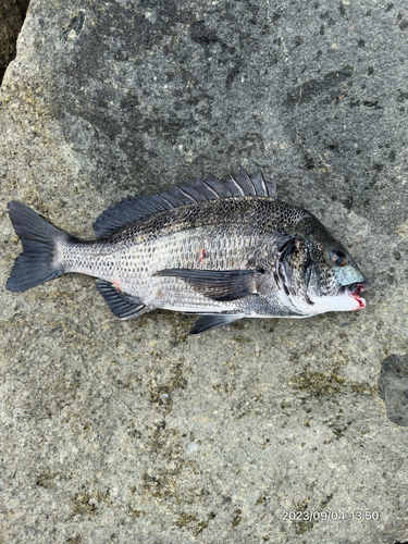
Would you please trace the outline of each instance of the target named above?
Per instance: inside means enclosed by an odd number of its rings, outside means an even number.
[[[245,196],[277,198],[276,181],[267,185],[260,170],[250,178],[243,168],[236,177],[231,176],[227,181],[209,174],[207,182],[197,178],[193,185],[183,183],[181,187],[172,187],[160,195],[126,198],[101,213],[94,223],[94,230],[98,237],[106,237],[165,210],[206,200]]]

